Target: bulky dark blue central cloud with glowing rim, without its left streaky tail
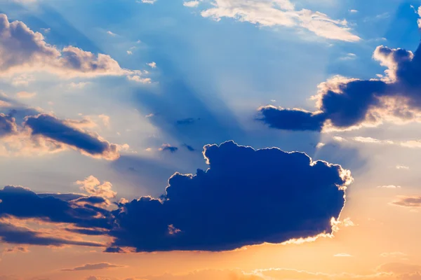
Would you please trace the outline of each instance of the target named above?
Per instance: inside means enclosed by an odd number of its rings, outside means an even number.
[[[278,148],[227,141],[205,146],[203,155],[209,169],[174,174],[159,200],[119,204],[113,246],[223,251],[331,233],[352,181],[339,165]]]

